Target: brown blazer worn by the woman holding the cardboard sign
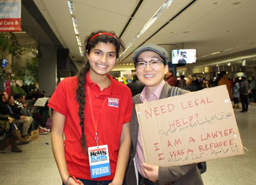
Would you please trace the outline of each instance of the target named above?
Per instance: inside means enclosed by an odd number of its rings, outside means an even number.
[[[168,97],[170,85],[165,83],[163,90],[161,91],[160,99]],[[180,94],[186,94],[189,91],[181,90]],[[135,104],[141,103],[140,94],[135,95],[134,97],[134,107],[131,116],[130,130],[131,130],[131,159],[129,161],[126,173],[126,183],[127,185],[136,185],[136,175],[134,167],[134,156],[136,154],[137,147],[137,137],[139,123],[137,120],[137,114],[135,111]],[[172,185],[203,185],[201,174],[197,168],[196,164],[174,166],[174,167],[159,167],[159,180],[157,181],[158,185],[166,185],[172,182]]]

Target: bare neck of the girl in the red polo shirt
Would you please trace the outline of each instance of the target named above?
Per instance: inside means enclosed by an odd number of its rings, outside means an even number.
[[[92,70],[89,71],[89,77],[93,81],[99,85],[100,90],[102,91],[104,88],[107,88],[111,84],[111,80],[108,78],[108,74],[99,75],[93,73]]]

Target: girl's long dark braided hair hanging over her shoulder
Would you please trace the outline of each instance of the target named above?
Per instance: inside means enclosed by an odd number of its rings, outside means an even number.
[[[91,40],[91,38],[99,33],[110,33],[116,36],[113,31],[105,31],[105,30],[98,30],[92,32],[84,41],[84,49],[85,54],[90,54],[92,48],[94,48],[99,42],[102,43],[112,43],[116,48],[116,58],[119,57],[119,53],[124,51],[125,44],[120,40],[118,37],[113,37],[110,35],[99,35]],[[87,153],[87,143],[86,143],[86,136],[84,134],[84,106],[85,106],[85,76],[87,71],[90,70],[90,64],[87,60],[85,65],[78,73],[78,87],[76,89],[76,100],[79,103],[79,118],[80,118],[80,126],[81,126],[81,148],[83,153]]]

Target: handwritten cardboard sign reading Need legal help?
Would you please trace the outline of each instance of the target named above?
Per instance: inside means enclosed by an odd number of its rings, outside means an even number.
[[[226,85],[135,108],[150,165],[169,167],[244,154]]]

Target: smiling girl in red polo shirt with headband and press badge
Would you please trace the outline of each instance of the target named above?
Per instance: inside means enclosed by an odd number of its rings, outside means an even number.
[[[96,31],[84,45],[84,67],[58,84],[48,104],[53,154],[64,185],[121,185],[133,105],[130,89],[108,73],[124,44],[114,32]]]

